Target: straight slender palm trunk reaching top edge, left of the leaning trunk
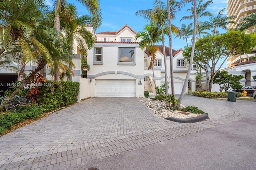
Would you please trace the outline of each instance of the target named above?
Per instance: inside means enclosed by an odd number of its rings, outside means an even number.
[[[173,78],[173,60],[172,60],[172,24],[171,24],[171,14],[170,14],[170,1],[167,1],[167,13],[168,13],[168,27],[169,27],[169,44],[170,44],[170,76],[171,76],[171,88],[172,95],[174,96],[174,78]],[[174,97],[175,99],[175,97]]]

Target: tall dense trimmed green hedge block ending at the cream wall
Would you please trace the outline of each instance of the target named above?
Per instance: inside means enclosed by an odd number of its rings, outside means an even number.
[[[58,109],[63,106],[75,104],[79,93],[79,83],[73,81],[62,81],[62,90],[57,81],[54,81],[54,93],[51,89],[52,81],[46,81],[40,86],[36,95],[38,105],[46,109]]]

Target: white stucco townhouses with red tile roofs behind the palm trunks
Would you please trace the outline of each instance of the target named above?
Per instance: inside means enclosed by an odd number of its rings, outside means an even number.
[[[80,86],[86,97],[143,97],[144,83],[149,83],[154,93],[153,79],[156,86],[164,80],[163,46],[158,45],[153,78],[152,69],[148,70],[150,56],[145,49],[140,49],[139,40],[135,40],[136,32],[125,25],[118,32],[100,32],[96,34],[96,43],[88,51],[87,63],[90,70],[87,80],[90,83]],[[168,82],[170,83],[170,55],[166,48]],[[182,56],[183,50],[173,50],[175,93],[181,93],[188,67]],[[195,90],[196,67],[193,67],[189,88]],[[83,79],[83,78],[81,78]],[[83,80],[82,80],[83,81]],[[87,87],[86,87],[87,86]],[[169,89],[171,92],[171,89]]]

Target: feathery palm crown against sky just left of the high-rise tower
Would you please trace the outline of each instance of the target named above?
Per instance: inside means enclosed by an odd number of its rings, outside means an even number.
[[[224,30],[228,30],[227,25],[228,24],[236,24],[236,22],[232,21],[236,18],[236,16],[223,16],[223,13],[225,12],[226,8],[223,8],[218,12],[217,16],[212,15],[209,18],[208,22],[204,22],[203,25],[208,26],[208,28],[213,28],[212,33],[213,35],[215,33],[218,33],[216,31],[216,28],[222,28]]]

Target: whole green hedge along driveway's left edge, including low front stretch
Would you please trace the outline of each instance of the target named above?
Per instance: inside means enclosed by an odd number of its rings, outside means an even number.
[[[36,94],[36,105],[17,107],[14,112],[0,112],[0,134],[6,128],[11,128],[14,123],[25,119],[35,119],[47,111],[53,111],[60,107],[76,103],[79,93],[79,83],[73,81],[62,81],[62,91],[58,82],[54,81],[54,93],[52,94],[52,81],[46,81],[39,87]]]

